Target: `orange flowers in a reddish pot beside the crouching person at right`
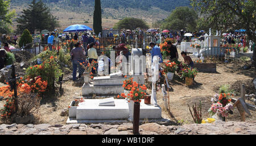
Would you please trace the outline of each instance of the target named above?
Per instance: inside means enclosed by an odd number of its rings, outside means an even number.
[[[196,77],[197,75],[197,70],[196,68],[184,68],[181,71],[181,76],[183,76],[183,78],[185,77],[185,81],[186,81],[186,85],[192,85],[193,84],[193,78]]]

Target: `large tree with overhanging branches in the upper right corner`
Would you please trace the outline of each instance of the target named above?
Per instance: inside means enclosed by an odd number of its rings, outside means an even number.
[[[255,0],[191,0],[195,10],[205,14],[213,29],[222,31],[246,29],[247,40],[256,42]],[[253,51],[253,65],[256,68],[256,52]]]

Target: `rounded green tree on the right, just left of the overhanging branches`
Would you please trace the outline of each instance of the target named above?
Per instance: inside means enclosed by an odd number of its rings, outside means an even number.
[[[162,29],[180,30],[187,29],[195,31],[198,15],[196,11],[189,7],[176,7],[174,11],[164,20]]]

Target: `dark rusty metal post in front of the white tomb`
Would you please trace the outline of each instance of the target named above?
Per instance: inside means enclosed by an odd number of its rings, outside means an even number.
[[[133,113],[133,134],[139,134],[139,111],[140,103],[134,102],[134,113]]]

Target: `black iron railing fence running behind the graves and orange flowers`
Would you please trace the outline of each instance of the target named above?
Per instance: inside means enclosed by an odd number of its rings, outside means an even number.
[[[121,50],[113,50],[113,46],[117,46],[119,44],[126,44],[126,48],[131,50],[132,48],[146,48],[150,44],[151,41],[154,40],[154,35],[135,35],[135,36],[114,36],[114,37],[101,37],[96,39],[96,49],[98,55],[104,54],[109,57],[110,51],[121,51]],[[48,45],[47,42],[33,42],[31,44],[25,45],[22,49],[24,58],[26,60],[33,58],[35,55],[41,53],[42,51],[48,50],[50,47],[53,51],[59,51],[63,49],[66,53],[70,53],[70,51],[75,46],[76,41],[74,40],[61,40],[53,42],[53,45]],[[83,45],[83,42],[80,41]],[[87,46],[83,46],[87,48]]]

